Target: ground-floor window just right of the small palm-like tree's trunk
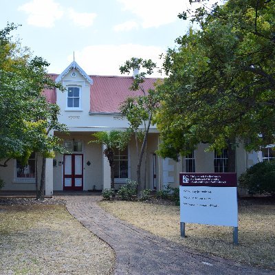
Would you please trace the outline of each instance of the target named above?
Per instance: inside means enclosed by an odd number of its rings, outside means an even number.
[[[115,151],[115,179],[127,179],[128,178],[128,148],[124,151]],[[124,182],[123,180],[116,180],[116,182]]]

